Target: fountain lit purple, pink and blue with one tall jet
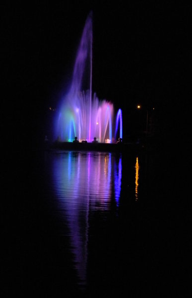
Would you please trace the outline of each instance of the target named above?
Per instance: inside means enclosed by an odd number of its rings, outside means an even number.
[[[56,121],[56,138],[72,142],[112,143],[122,138],[122,111],[114,122],[114,106],[99,100],[92,92],[92,12],[88,15],[80,40],[69,91],[64,96]]]

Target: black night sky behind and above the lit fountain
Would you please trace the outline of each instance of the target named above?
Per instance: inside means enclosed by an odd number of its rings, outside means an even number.
[[[29,125],[32,133],[45,125],[49,106],[57,106],[70,83],[92,10],[93,91],[122,108],[125,126],[137,103],[155,106],[161,125],[164,119],[175,121],[176,107],[187,94],[188,7],[172,1],[88,3],[1,5],[5,102],[14,110],[10,118],[23,131]]]

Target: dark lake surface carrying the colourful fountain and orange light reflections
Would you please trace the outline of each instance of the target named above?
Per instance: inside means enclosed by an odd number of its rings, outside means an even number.
[[[8,238],[15,247],[14,262],[9,256],[6,263],[12,294],[15,287],[20,297],[176,294],[185,263],[178,261],[169,159],[37,150],[30,162]]]

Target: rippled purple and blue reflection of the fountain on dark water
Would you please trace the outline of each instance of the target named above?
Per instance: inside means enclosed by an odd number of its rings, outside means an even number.
[[[117,214],[122,188],[122,156],[110,152],[64,151],[54,155],[52,162],[58,209],[67,221],[75,268],[80,284],[85,286],[90,214],[99,212],[103,218],[107,217],[112,200]]]

